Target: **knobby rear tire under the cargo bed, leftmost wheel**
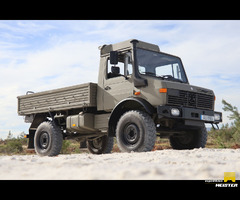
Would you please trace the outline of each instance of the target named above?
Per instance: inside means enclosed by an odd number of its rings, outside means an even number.
[[[42,122],[35,133],[35,151],[39,156],[57,156],[62,148],[61,129],[53,122]]]

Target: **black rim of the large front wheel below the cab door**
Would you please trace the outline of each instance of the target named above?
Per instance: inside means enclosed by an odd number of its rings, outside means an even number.
[[[123,130],[125,144],[134,145],[139,141],[140,133],[136,124],[127,124]]]

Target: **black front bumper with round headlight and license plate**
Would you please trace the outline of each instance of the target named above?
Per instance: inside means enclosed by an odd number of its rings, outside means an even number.
[[[179,110],[179,112],[176,112]],[[222,122],[222,113],[212,110],[187,108],[182,106],[157,106],[158,118],[182,119],[188,122],[218,124]]]

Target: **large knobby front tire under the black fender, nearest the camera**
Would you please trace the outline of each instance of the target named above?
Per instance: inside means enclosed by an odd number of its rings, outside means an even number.
[[[116,138],[122,152],[151,151],[156,140],[156,127],[147,113],[131,110],[119,119]]]

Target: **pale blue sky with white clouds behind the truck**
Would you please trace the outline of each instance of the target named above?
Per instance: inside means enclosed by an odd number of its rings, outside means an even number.
[[[28,133],[17,96],[97,82],[98,47],[131,38],[182,59],[190,84],[240,109],[239,20],[0,20],[0,138]]]

